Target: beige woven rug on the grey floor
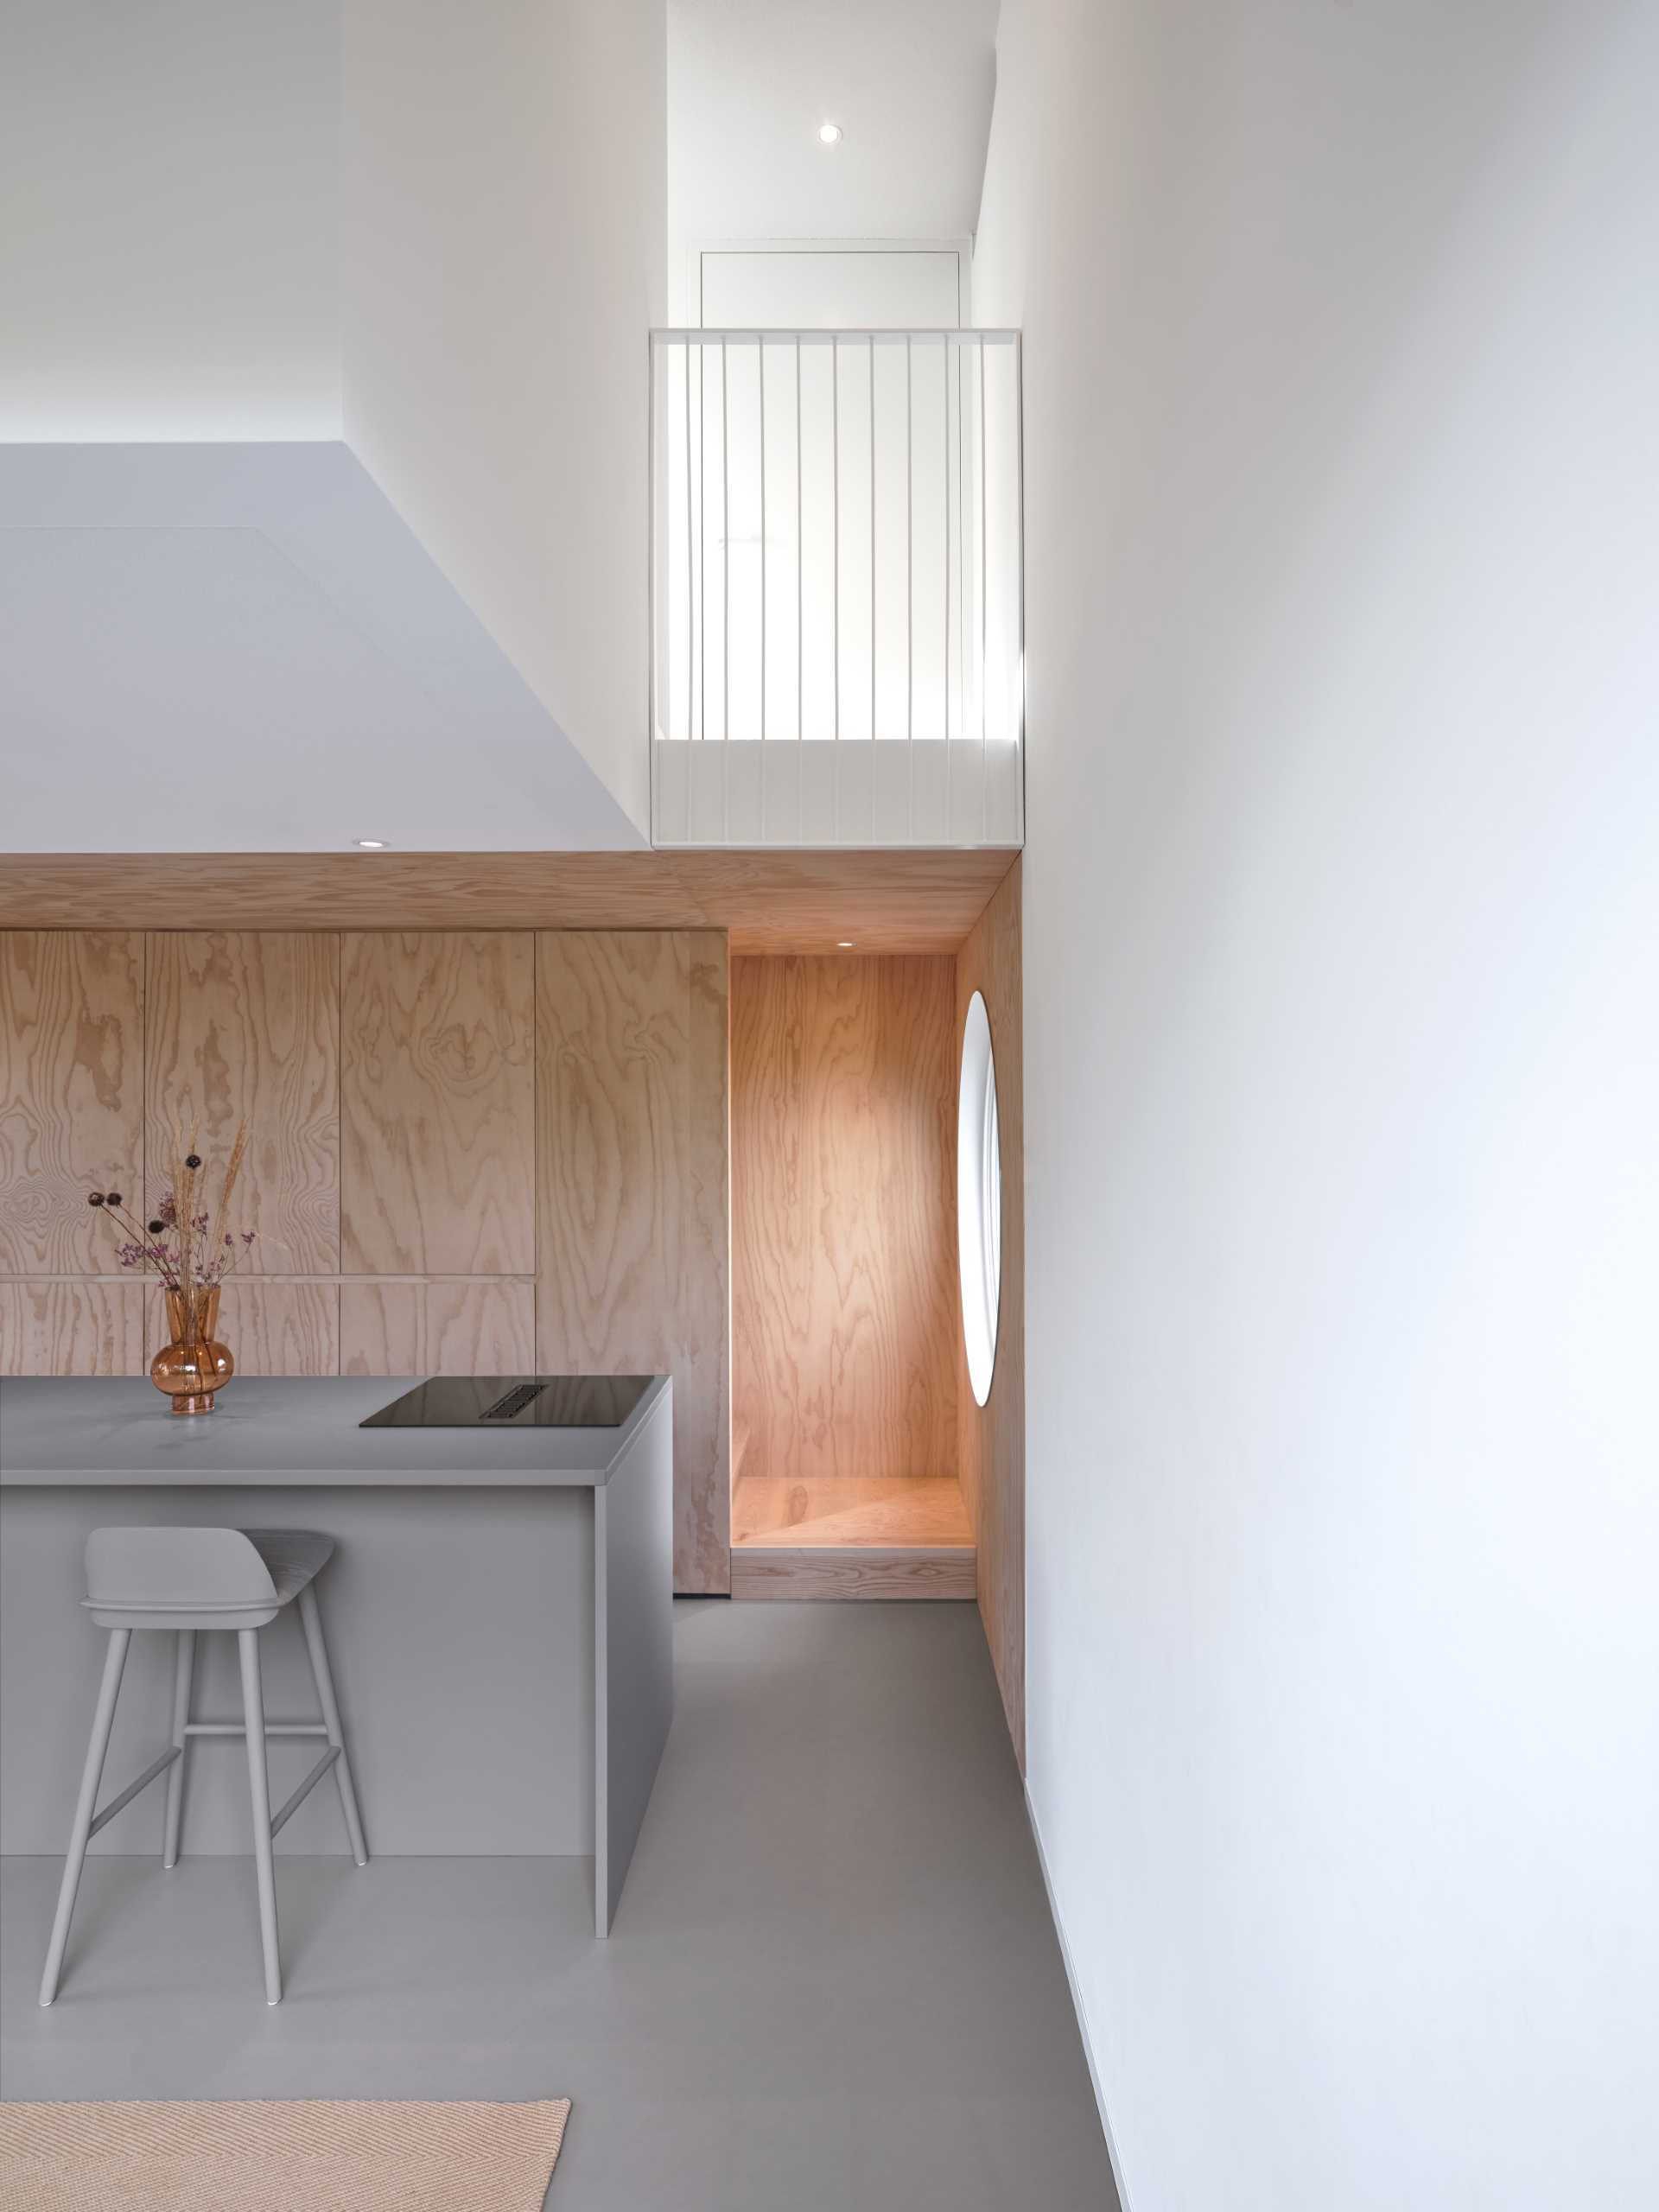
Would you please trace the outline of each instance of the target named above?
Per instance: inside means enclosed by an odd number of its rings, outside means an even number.
[[[542,2212],[571,2099],[0,2104],[4,2212]]]

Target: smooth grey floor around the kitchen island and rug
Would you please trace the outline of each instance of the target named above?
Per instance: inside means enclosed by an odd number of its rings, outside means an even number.
[[[0,2090],[573,2097],[549,2212],[1115,2212],[975,1608],[681,1601],[677,1659],[608,1944],[586,1860],[279,1858],[270,2011],[248,1860],[104,1858],[42,2013],[13,1858]]]

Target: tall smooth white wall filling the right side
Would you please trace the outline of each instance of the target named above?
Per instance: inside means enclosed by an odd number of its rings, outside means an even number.
[[[1659,2201],[1659,9],[1006,0],[1031,1794],[1133,2212]]]

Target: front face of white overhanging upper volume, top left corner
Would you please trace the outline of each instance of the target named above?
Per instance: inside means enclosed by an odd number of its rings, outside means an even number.
[[[20,0],[0,442],[338,438],[338,0]]]

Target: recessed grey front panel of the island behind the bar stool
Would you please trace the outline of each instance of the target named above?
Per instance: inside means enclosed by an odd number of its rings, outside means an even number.
[[[69,1838],[104,1663],[80,1604],[86,1533],[155,1524],[334,1537],[316,1588],[372,1856],[593,1851],[593,1491],[292,1484],[0,1493],[0,1851],[60,1854]],[[312,1719],[299,1619],[261,1632],[261,1661],[268,1717]],[[173,1637],[135,1635],[104,1803],[166,1747],[170,1683]],[[234,1637],[199,1637],[195,1714],[241,1719]],[[307,1739],[272,1745],[272,1801],[312,1756]],[[91,1847],[159,1854],[159,1787]],[[239,1739],[199,1739],[184,1854],[248,1847]],[[345,1851],[332,1790],[276,1851]]]

